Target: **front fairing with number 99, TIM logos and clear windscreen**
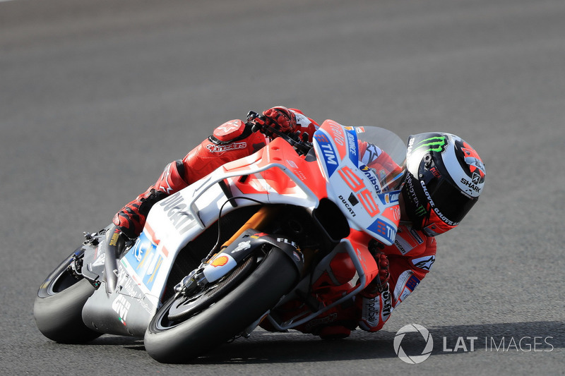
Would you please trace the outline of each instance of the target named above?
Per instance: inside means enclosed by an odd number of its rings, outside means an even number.
[[[344,127],[325,121],[314,133],[314,150],[327,195],[353,229],[386,245],[400,222],[398,198],[405,176],[405,146],[391,131]]]

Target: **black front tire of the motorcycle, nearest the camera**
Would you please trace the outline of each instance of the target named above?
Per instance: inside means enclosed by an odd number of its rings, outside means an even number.
[[[292,260],[273,248],[232,291],[182,322],[167,319],[171,307],[178,305],[174,297],[169,299],[145,332],[145,350],[161,363],[186,363],[237,336],[273,308],[298,279]]]

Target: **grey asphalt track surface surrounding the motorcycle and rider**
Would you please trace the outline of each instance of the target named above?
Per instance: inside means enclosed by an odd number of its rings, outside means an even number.
[[[562,0],[1,2],[1,372],[563,374],[564,19]],[[82,231],[214,126],[275,104],[456,133],[484,159],[484,195],[381,332],[256,332],[163,365],[139,339],[37,331],[37,287]],[[412,323],[434,339],[417,365],[393,349]]]

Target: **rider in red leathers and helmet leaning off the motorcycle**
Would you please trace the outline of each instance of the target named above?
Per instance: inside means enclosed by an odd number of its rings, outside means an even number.
[[[114,224],[126,236],[135,238],[155,202],[226,162],[256,152],[277,137],[257,131],[265,125],[287,134],[299,132],[310,141],[319,127],[302,111],[281,106],[267,109],[262,115],[250,111],[246,122],[227,121],[186,157],[169,163],[153,186],[117,212]],[[393,309],[414,291],[432,267],[436,257],[434,236],[457,226],[482,193],[484,164],[477,152],[456,135],[411,135],[406,165],[396,239],[390,246],[376,241],[369,245],[379,265],[378,277],[354,302],[335,307],[296,329],[322,338],[348,336],[357,326],[369,332],[381,329]],[[331,267],[343,266],[335,262]]]

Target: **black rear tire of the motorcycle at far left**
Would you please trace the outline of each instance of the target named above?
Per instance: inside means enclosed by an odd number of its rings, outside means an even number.
[[[86,327],[82,318],[83,306],[95,291],[94,286],[88,280],[77,280],[66,272],[73,262],[73,255],[82,257],[83,253],[84,250],[77,250],[61,262],[37,291],[33,305],[37,329],[61,344],[81,344],[102,335]]]

